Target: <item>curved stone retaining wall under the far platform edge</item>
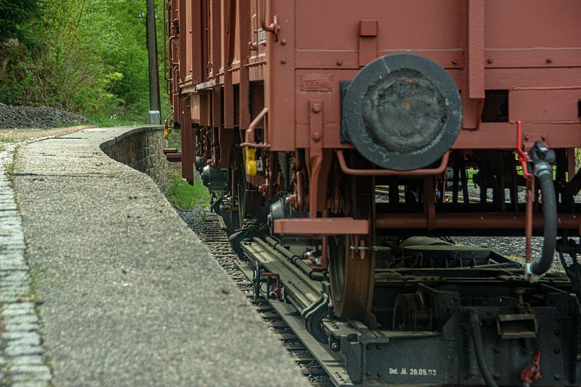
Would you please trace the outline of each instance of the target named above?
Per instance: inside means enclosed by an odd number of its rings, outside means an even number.
[[[169,162],[164,154],[166,147],[163,126],[136,128],[101,145],[107,156],[146,173],[164,192],[169,173]]]

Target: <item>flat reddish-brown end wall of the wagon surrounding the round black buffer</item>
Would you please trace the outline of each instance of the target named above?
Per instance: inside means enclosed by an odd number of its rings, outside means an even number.
[[[326,131],[329,133],[329,136],[325,136],[325,146],[341,147],[335,127],[340,109],[336,102],[339,99],[338,81],[352,79],[353,70],[361,67],[358,60],[359,40],[362,39],[358,33],[359,24],[377,18],[376,10],[383,8],[388,8],[389,12],[378,19],[378,49],[375,58],[404,51],[417,53],[446,68],[459,89],[463,90],[464,109],[467,109],[467,116],[471,118],[470,123],[465,121],[464,128],[478,130],[463,131],[455,148],[509,147],[507,144],[511,143],[510,139],[504,141],[506,129],[503,127],[506,124],[479,124],[478,111],[481,111],[481,107],[472,107],[482,101],[484,90],[490,89],[510,90],[509,119],[533,121],[545,126],[547,129],[543,132],[550,133],[555,141],[559,141],[554,145],[551,143],[551,146],[564,146],[566,139],[573,134],[576,143],[581,143],[578,134],[581,124],[577,119],[567,119],[567,116],[576,114],[576,99],[567,97],[564,90],[558,89],[560,85],[580,86],[580,45],[574,43],[571,37],[577,36],[579,32],[574,20],[580,16],[578,13],[581,11],[572,1],[560,1],[555,8],[543,1],[509,1],[508,6],[503,1],[477,3],[459,0],[389,1],[388,4],[384,1],[366,1],[365,4],[353,6],[350,2],[336,1],[329,6],[325,2],[312,4],[311,1],[296,1],[293,14],[295,24],[301,28],[291,38],[293,40],[287,39],[287,42],[294,41],[296,45],[295,82],[293,84],[288,75],[278,76],[277,72],[272,72],[270,81],[281,90],[293,87],[299,89],[299,77],[305,75],[331,82],[330,90],[325,85],[318,90],[302,89],[301,93],[296,94],[296,145],[308,146],[308,137],[302,136],[306,132],[304,126],[308,120],[306,104],[309,94],[316,93],[324,95],[331,107],[325,115]],[[526,11],[517,11],[522,8]],[[326,23],[321,22],[321,14],[326,15]],[[527,33],[531,28],[535,28],[535,32]],[[284,28],[279,36],[285,37]],[[510,43],[503,41],[501,36],[511,36]],[[540,42],[543,44],[540,45]],[[274,45],[272,49],[280,52],[279,45]],[[286,56],[291,58],[292,55]],[[548,59],[550,62],[547,62]],[[284,67],[279,62],[269,66],[277,71]],[[568,74],[575,75],[569,77]],[[563,78],[563,75],[567,77]],[[324,85],[324,82],[321,83]],[[523,93],[517,91],[519,87],[537,86],[548,87],[536,96],[543,101],[536,102],[536,105],[542,104],[543,109],[533,109],[530,105],[535,99],[532,94],[527,102],[521,102],[521,97],[512,99],[513,94]],[[565,105],[559,102],[563,100],[566,101]],[[538,116],[538,112],[546,112],[547,115],[537,119],[535,116]],[[277,119],[277,114],[284,113],[273,109],[272,118]],[[549,116],[554,118],[549,119]],[[482,126],[490,129],[480,134]],[[278,137],[282,133],[288,133],[287,126],[283,125],[280,130],[277,127],[270,128],[271,137]],[[490,141],[490,136],[496,134],[501,136],[501,141]],[[277,143],[274,146],[275,149],[284,149],[284,144],[280,148]]]

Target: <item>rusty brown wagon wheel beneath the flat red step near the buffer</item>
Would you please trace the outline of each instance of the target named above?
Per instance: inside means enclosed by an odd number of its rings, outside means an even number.
[[[375,280],[375,252],[367,251],[362,259],[351,250],[353,236],[329,239],[329,277],[331,300],[337,317],[365,322],[371,311]]]

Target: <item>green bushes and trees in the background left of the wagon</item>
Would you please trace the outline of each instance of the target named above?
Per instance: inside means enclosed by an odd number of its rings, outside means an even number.
[[[0,0],[0,12],[13,10],[14,1]],[[37,1],[16,0],[16,4]],[[18,35],[0,43],[0,102],[80,112],[100,124],[144,122],[149,110],[146,1],[43,0],[40,4],[41,12],[31,12],[30,23],[39,26],[35,49],[26,48]],[[13,24],[22,25],[14,12],[6,15]],[[158,19],[162,41],[161,4]]]

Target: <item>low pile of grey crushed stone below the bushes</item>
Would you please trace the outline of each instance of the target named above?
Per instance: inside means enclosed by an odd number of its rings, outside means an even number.
[[[0,104],[0,128],[56,128],[85,122],[88,120],[80,114],[52,107],[20,107]]]

